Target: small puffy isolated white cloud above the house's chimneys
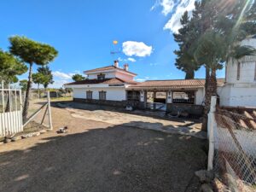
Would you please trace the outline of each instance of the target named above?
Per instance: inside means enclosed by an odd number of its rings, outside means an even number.
[[[148,46],[143,42],[126,41],[123,43],[123,52],[127,56],[149,56],[153,52],[152,46]]]

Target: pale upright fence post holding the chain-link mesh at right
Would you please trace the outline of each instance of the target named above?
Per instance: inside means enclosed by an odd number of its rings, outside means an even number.
[[[209,132],[209,152],[208,152],[208,166],[207,170],[211,171],[213,169],[213,156],[214,156],[214,113],[216,111],[216,101],[217,97],[212,96],[211,98],[211,108],[208,114],[208,132]]]

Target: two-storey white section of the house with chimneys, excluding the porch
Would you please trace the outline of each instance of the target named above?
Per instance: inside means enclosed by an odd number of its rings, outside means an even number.
[[[123,68],[119,67],[118,61],[114,61],[113,66],[84,71],[84,74],[87,75],[87,79],[65,84],[66,88],[73,89],[74,101],[108,102],[106,104],[113,102],[113,105],[118,105],[119,102],[126,101],[125,88],[131,84],[137,84],[134,81],[137,74],[128,71],[128,64],[125,64]]]

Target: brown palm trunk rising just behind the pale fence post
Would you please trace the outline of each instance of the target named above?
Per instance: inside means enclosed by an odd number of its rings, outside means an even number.
[[[217,95],[217,79],[216,79],[216,70],[212,69],[212,73],[210,74],[210,70],[206,69],[206,94],[205,94],[205,107],[203,111],[203,121],[201,130],[207,131],[207,121],[208,121],[208,113],[211,108],[211,97]]]

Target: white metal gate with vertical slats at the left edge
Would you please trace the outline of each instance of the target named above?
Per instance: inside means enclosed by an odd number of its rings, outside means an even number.
[[[21,90],[0,88],[0,137],[23,131]]]

